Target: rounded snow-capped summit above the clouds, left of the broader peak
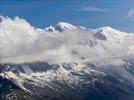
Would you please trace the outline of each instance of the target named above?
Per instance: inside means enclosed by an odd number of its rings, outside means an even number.
[[[67,23],[67,22],[59,22],[56,24],[55,29],[59,30],[59,31],[64,31],[65,29],[76,29],[77,27]]]

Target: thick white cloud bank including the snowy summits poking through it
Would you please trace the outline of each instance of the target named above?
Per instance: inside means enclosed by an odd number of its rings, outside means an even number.
[[[62,22],[39,29],[19,17],[1,20],[1,62],[97,62],[134,51],[134,35],[111,27],[87,29]]]

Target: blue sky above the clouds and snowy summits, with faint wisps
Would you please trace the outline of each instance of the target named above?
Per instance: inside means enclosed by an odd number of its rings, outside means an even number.
[[[134,32],[134,0],[0,0],[0,8],[2,16],[19,16],[39,28],[65,21]]]

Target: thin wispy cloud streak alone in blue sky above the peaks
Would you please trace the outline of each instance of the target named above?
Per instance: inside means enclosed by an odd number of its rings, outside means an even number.
[[[97,8],[97,7],[82,7],[80,11],[84,12],[108,12],[108,9],[105,8]]]

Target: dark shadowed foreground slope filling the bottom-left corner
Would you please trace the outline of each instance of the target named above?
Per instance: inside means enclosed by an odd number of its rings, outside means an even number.
[[[25,92],[12,81],[0,77],[0,100],[45,100]]]

